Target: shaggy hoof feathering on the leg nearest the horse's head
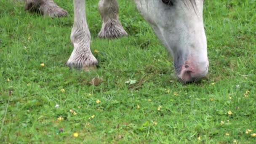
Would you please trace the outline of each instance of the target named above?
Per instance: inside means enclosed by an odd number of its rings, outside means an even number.
[[[98,34],[100,38],[116,38],[128,36],[127,32],[123,29],[120,21],[110,19],[109,21],[103,22],[101,31]]]

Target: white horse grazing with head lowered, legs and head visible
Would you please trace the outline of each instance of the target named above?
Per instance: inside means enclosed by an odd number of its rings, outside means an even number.
[[[134,0],[137,9],[171,53],[176,75],[184,82],[199,80],[208,73],[207,42],[203,25],[203,0]],[[67,11],[53,0],[25,0],[27,10],[39,10],[51,17]],[[118,19],[117,0],[99,0],[102,27],[99,37],[128,35]],[[74,24],[70,39],[74,50],[69,67],[89,69],[98,64],[90,50],[85,0],[74,0]]]

